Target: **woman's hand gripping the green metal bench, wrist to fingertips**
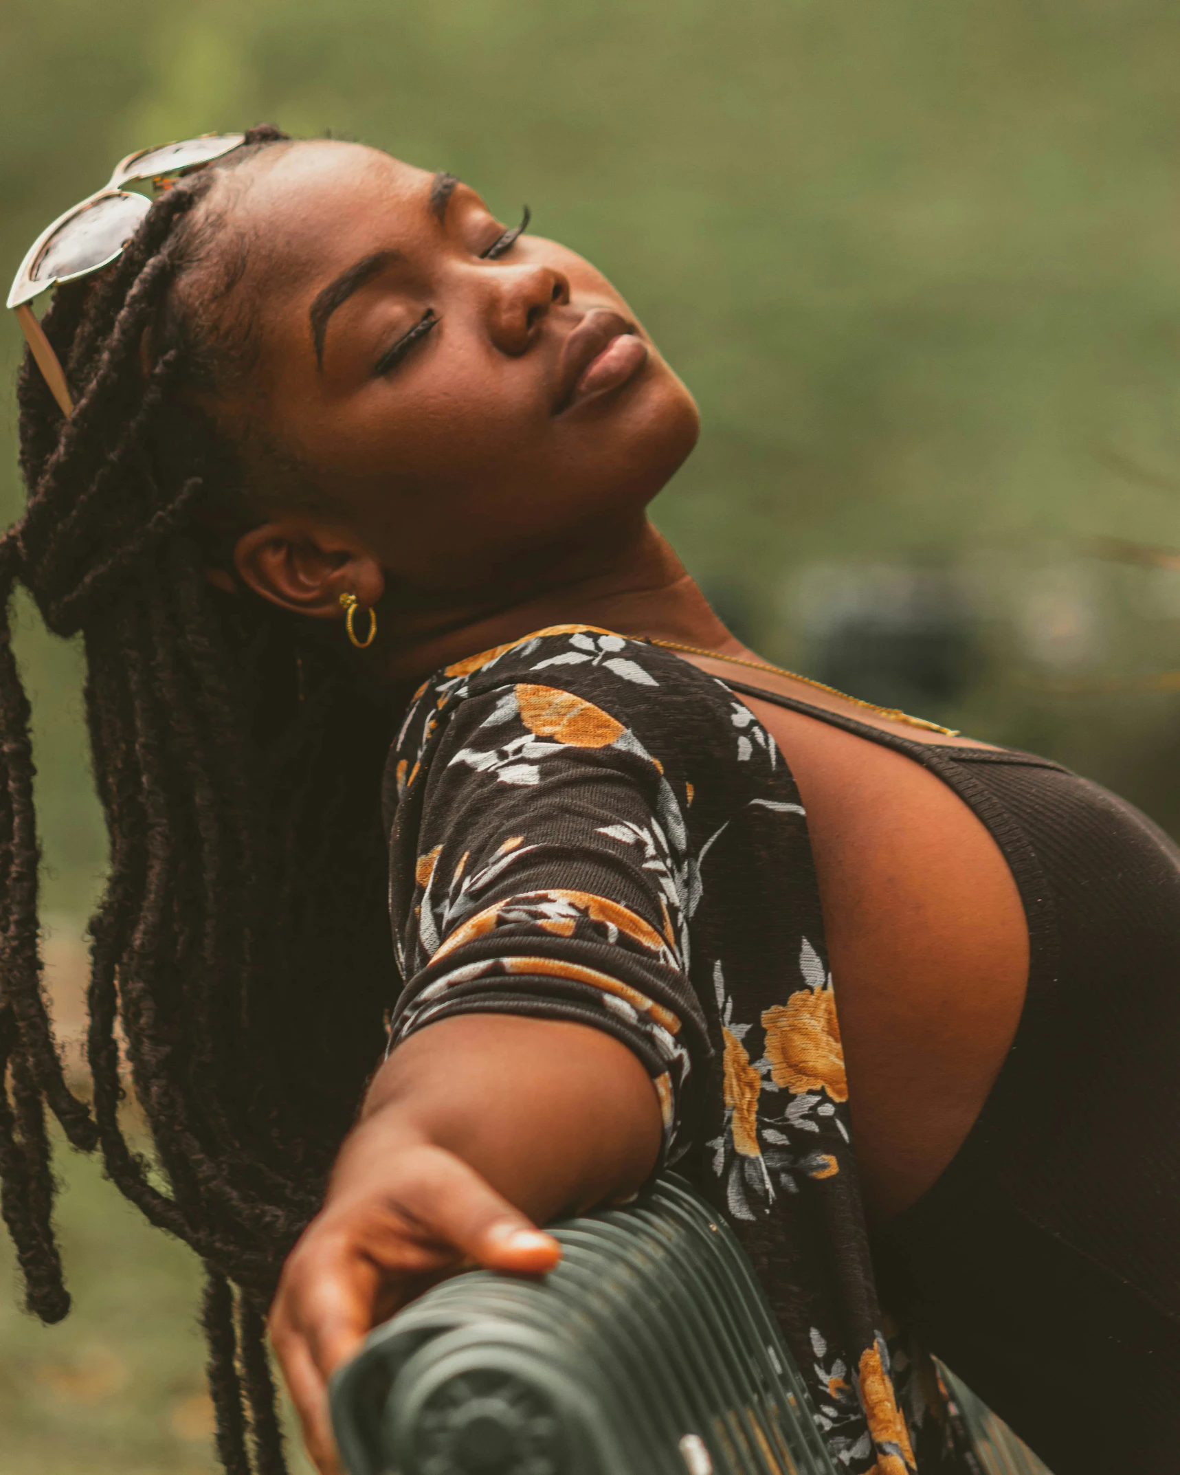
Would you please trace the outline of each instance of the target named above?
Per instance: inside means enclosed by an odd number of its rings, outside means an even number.
[[[556,1239],[454,1153],[422,1140],[394,1146],[378,1120],[361,1124],[270,1310],[271,1342],[322,1475],[342,1475],[327,1379],[373,1326],[465,1260],[543,1274],[559,1258]]]

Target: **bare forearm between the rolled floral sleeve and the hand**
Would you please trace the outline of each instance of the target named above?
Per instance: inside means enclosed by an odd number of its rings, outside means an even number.
[[[659,1153],[639,1059],[587,1025],[462,1015],[410,1035],[378,1071],[327,1195],[381,1180],[400,1148],[453,1152],[534,1223],[624,1198]]]

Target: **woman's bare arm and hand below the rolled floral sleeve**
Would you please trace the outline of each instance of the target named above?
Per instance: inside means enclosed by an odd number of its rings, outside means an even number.
[[[583,1024],[460,1015],[392,1052],[270,1310],[322,1475],[342,1475],[327,1379],[369,1330],[465,1261],[552,1270],[560,1248],[535,1224],[634,1193],[659,1133],[643,1065]]]

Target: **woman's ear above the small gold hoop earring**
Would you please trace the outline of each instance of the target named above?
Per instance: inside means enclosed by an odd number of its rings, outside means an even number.
[[[341,620],[341,594],[364,609],[385,593],[385,574],[347,528],[313,518],[283,518],[245,532],[233,549],[243,583],[280,609],[316,620]]]

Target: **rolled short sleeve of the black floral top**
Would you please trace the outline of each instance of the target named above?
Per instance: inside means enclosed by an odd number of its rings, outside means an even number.
[[[674,1161],[711,1050],[689,982],[683,820],[659,758],[618,711],[504,680],[422,693],[391,773],[404,979],[391,1044],[476,1012],[605,1030],[648,1068],[661,1162]]]

